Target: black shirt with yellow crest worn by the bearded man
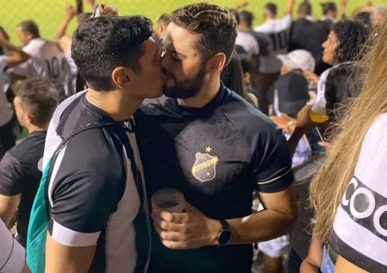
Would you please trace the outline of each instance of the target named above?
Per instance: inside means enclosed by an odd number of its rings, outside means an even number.
[[[251,214],[254,189],[276,192],[293,181],[281,130],[223,85],[202,108],[167,98],[144,106],[135,118],[149,197],[160,188],[175,187],[208,217],[238,218]],[[151,272],[251,269],[251,244],[170,250],[154,230],[152,240]]]

